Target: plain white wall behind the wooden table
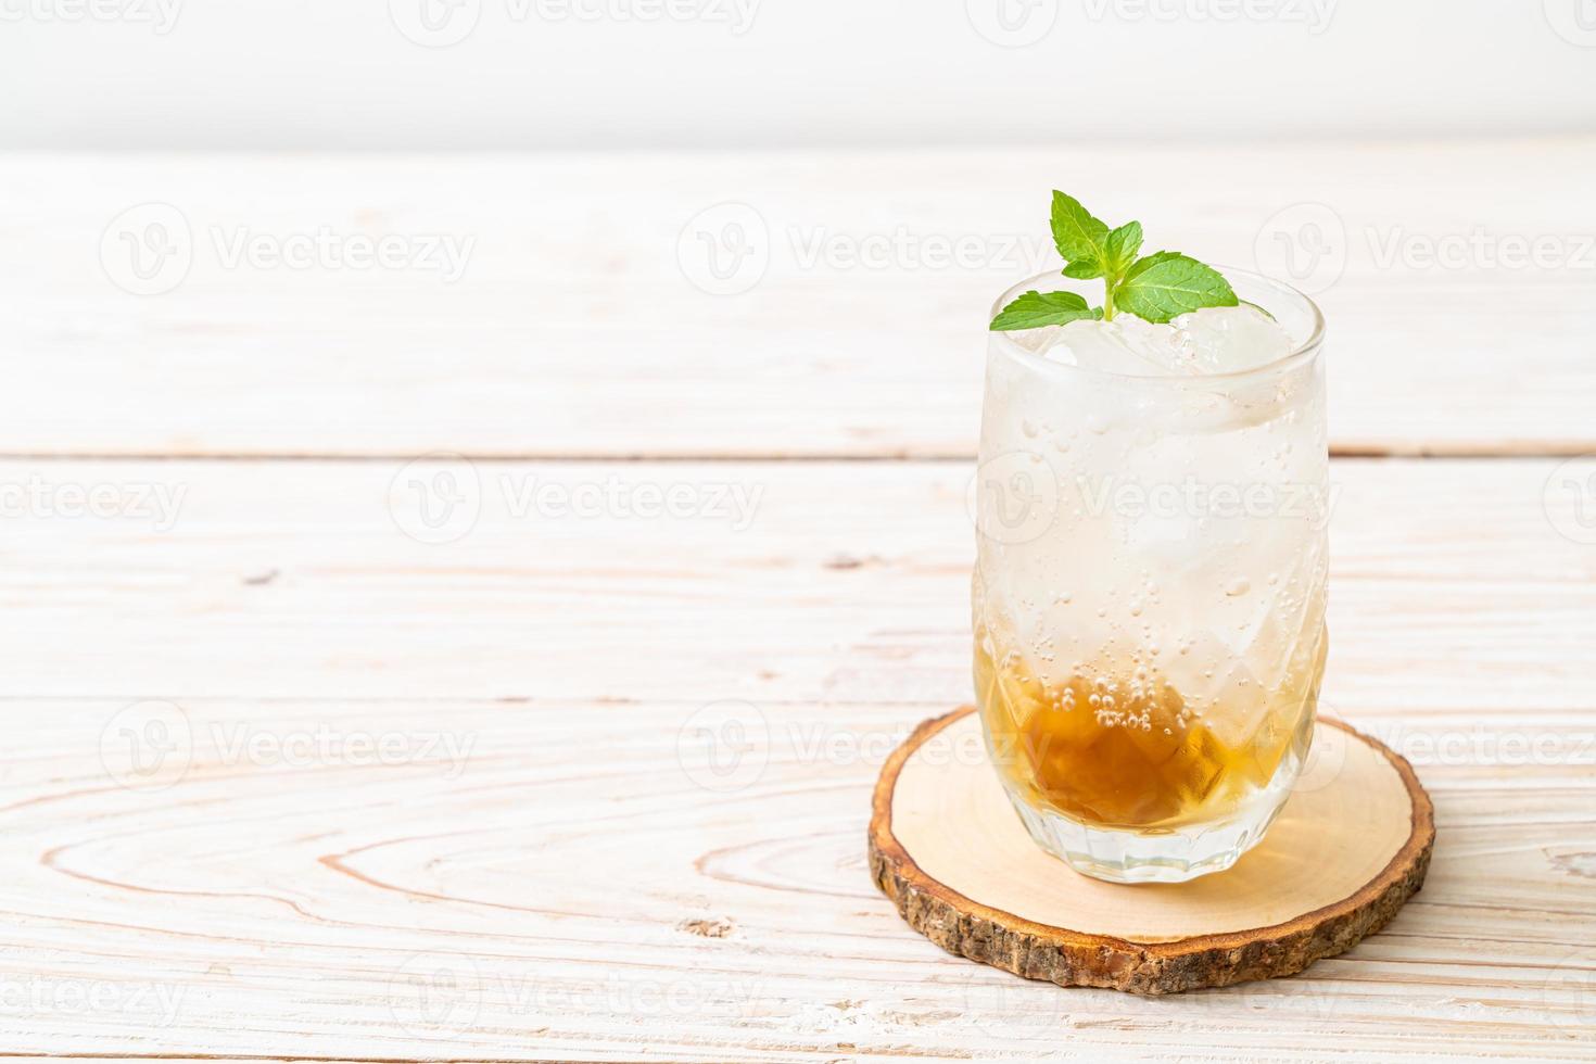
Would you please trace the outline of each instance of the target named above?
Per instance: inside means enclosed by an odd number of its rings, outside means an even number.
[[[1583,131],[1596,0],[0,0],[0,147]]]

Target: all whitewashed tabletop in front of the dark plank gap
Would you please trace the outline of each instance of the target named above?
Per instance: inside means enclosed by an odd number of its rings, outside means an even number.
[[[1173,1002],[948,957],[870,884],[881,763],[969,692],[962,463],[477,463],[442,544],[397,463],[3,463],[187,495],[6,523],[0,1046],[1590,1059],[1596,552],[1556,466],[1334,464],[1326,699],[1446,844],[1377,938]],[[763,496],[516,517],[500,474]]]

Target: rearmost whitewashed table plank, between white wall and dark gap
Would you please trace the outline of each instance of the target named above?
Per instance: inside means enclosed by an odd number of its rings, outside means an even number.
[[[1269,273],[1291,252],[1329,284],[1337,450],[1591,451],[1593,169],[1596,139],[8,155],[0,349],[27,386],[0,394],[0,453],[969,456],[983,311],[1052,265],[1060,183],[1154,244]],[[140,297],[99,249],[152,201],[180,211],[192,266]],[[726,203],[753,219],[701,219]],[[694,219],[747,223],[758,284],[694,286]],[[231,265],[239,241],[322,231],[394,236],[421,263],[440,262],[428,238],[471,247],[453,281]]]

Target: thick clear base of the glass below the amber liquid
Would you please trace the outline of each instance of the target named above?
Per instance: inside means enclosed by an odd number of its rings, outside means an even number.
[[[1301,770],[1288,751],[1269,785],[1224,820],[1149,831],[1092,828],[1063,814],[1034,809],[1009,794],[1039,847],[1073,869],[1114,884],[1178,884],[1219,873],[1258,845],[1291,794]]]

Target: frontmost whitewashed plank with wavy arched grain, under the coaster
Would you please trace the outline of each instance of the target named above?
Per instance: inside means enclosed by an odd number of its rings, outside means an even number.
[[[1588,1059],[1596,766],[1420,759],[1446,844],[1310,971],[1136,1000],[946,956],[860,847],[935,707],[179,700],[192,755],[118,786],[120,700],[13,700],[10,1051],[375,1059]],[[1491,715],[1424,721],[1425,735]],[[322,727],[388,737],[289,753]],[[1588,721],[1545,724],[1564,740]],[[453,735],[428,750],[434,734]],[[255,751],[239,756],[239,750]],[[120,767],[123,763],[112,761]],[[747,766],[747,767],[744,767]],[[180,775],[179,775],[179,770]],[[174,778],[176,777],[176,778]],[[1561,858],[1561,860],[1559,860]],[[161,994],[166,997],[163,999]],[[80,995],[105,999],[88,1010]]]

